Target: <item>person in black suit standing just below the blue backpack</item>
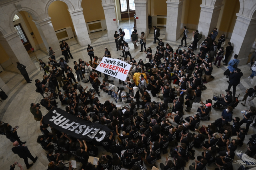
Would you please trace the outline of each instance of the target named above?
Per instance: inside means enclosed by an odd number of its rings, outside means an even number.
[[[232,72],[229,76],[230,81],[228,81],[228,90],[225,90],[228,92],[230,88],[233,86],[233,98],[236,97],[236,86],[240,84],[240,79],[243,76],[243,73],[241,72],[241,69],[237,68]]]

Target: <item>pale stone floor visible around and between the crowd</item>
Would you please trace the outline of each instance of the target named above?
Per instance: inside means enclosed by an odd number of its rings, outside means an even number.
[[[146,58],[146,54],[139,52],[140,48],[134,50],[132,42],[130,42],[130,33],[132,32],[132,27],[133,27],[133,22],[122,22],[120,24],[120,28],[122,28],[126,32],[125,40],[128,42],[130,46],[130,53],[132,57],[136,61],[139,61],[139,59],[144,59]],[[160,33],[161,36],[160,38],[164,39],[165,37],[165,28],[160,28]],[[140,35],[140,33],[139,33]],[[118,58],[122,55],[121,51],[116,51],[116,46],[114,39],[108,41],[107,37],[107,32],[102,31],[102,32],[95,32],[92,34],[89,34],[92,44],[91,46],[94,48],[94,55],[97,55],[98,57],[102,57],[104,54],[104,48],[107,47],[110,52],[112,58]],[[189,36],[192,37],[192,30],[189,30]],[[147,38],[147,43],[146,47],[151,47],[152,50],[155,52],[156,51],[156,44],[152,44],[154,34],[153,31],[151,30],[148,38]],[[172,46],[174,50],[177,49],[178,45],[180,44],[181,38],[177,40],[176,42],[174,41],[165,41],[164,43],[166,44],[167,42]],[[87,47],[80,47],[80,45],[77,43],[75,38],[72,38],[70,40],[66,40],[68,44],[70,44],[70,51],[74,57],[74,60],[78,61],[79,58],[82,58],[82,60],[89,61],[90,58],[86,52]],[[188,44],[191,42],[191,40],[188,40]],[[226,43],[227,44],[227,43]],[[199,52],[198,50],[196,52]],[[42,59],[44,62],[48,62],[48,54],[46,52],[46,49],[38,50],[35,52],[36,56],[38,59]],[[46,151],[42,149],[40,144],[36,143],[36,139],[39,135],[41,135],[40,132],[40,123],[36,122],[32,116],[32,114],[29,111],[30,104],[32,102],[39,103],[40,99],[42,98],[39,93],[36,93],[34,90],[36,90],[36,87],[34,85],[34,80],[36,79],[42,79],[43,78],[43,70],[40,71],[40,65],[38,61],[36,60],[36,57],[34,54],[30,54],[30,57],[34,64],[36,65],[37,69],[30,74],[30,79],[33,80],[31,84],[27,84],[24,78],[15,72],[14,65],[9,66],[8,68],[5,69],[4,72],[0,73],[0,77],[2,80],[9,86],[11,89],[10,92],[8,93],[8,98],[6,100],[3,100],[0,102],[0,120],[3,122],[9,123],[13,127],[18,125],[20,128],[18,128],[17,132],[18,135],[20,136],[20,139],[22,141],[27,141],[26,146],[28,146],[30,152],[32,153],[33,156],[38,156],[38,161],[30,168],[31,170],[45,170],[46,166],[48,165],[48,160],[46,158]],[[60,57],[57,57],[57,61],[59,60]],[[71,60],[68,64],[73,68],[74,64],[73,61]],[[26,63],[22,63],[26,65]],[[250,79],[247,77],[251,74],[251,71],[249,70],[248,65],[244,66],[239,66],[239,68],[242,70],[244,73],[244,76],[241,78],[241,82],[237,87],[237,92],[236,94],[241,94],[239,96],[239,100],[242,99],[244,92],[246,89],[252,87]],[[225,89],[228,87],[227,83],[227,78],[223,76],[223,72],[227,69],[226,66],[221,65],[220,68],[216,68],[214,66],[214,70],[212,72],[212,75],[215,77],[215,79],[212,82],[209,82],[208,84],[205,84],[207,86],[207,89],[202,91],[202,101],[207,100],[208,98],[212,98],[213,93],[218,93],[218,94],[225,94]],[[75,75],[76,76],[76,75]],[[100,81],[102,81],[103,77],[99,78]],[[119,87],[122,86],[122,84],[118,84],[118,79],[113,79],[115,84],[117,84]],[[89,88],[92,88],[90,83],[84,84],[81,82],[82,86],[88,86]],[[173,84],[172,84],[173,85]],[[102,90],[100,90],[102,92]],[[150,94],[151,95],[151,94]],[[114,100],[112,98],[109,98],[109,96],[106,93],[101,93],[100,96],[100,101],[104,102],[105,100],[110,99],[110,101]],[[153,98],[153,101],[160,102],[160,99]],[[58,99],[57,99],[58,102]],[[60,102],[59,102],[60,103]],[[123,105],[124,103],[118,102],[118,104]],[[256,105],[256,99],[252,101],[252,106]],[[58,104],[58,106],[62,109],[65,108],[64,105]],[[172,106],[172,104],[169,104],[169,106]],[[196,113],[196,110],[200,106],[200,104],[196,103],[193,105],[193,108],[190,113],[185,112],[185,116],[190,116]],[[241,110],[248,109],[247,107],[243,107],[241,104],[238,105],[236,109],[234,109],[234,115],[239,116],[242,118],[242,114],[240,113]],[[64,109],[65,110],[65,109]],[[46,114],[46,109],[42,108],[41,109],[42,114]],[[140,110],[139,110],[140,111]],[[210,113],[211,120],[210,121],[201,121],[200,126],[208,125],[210,122],[214,122],[217,118],[220,118],[221,112],[212,109],[212,112]],[[245,124],[242,125],[243,128],[245,128]],[[246,136],[246,139],[244,141],[244,146],[238,147],[238,150],[245,152],[246,151],[246,143],[248,142],[248,139],[252,134],[256,133],[256,129],[253,129],[250,127],[248,136]],[[180,142],[179,142],[180,143]],[[6,139],[5,136],[0,136],[0,170],[7,170],[11,164],[13,164],[14,161],[18,161],[24,166],[25,164],[24,161],[18,157],[18,155],[13,154],[11,151],[12,148],[12,142],[10,140]],[[105,154],[108,154],[106,151],[103,150],[103,148],[100,146],[99,152],[100,153],[98,156],[101,155],[102,152]],[[195,156],[198,156],[201,154],[202,149],[197,149],[196,150]],[[238,151],[237,150],[237,151]],[[111,155],[111,154],[110,154]],[[156,166],[157,168],[159,167],[159,164],[162,162],[165,162],[165,157],[170,156],[170,148],[168,149],[168,154],[162,155],[162,158],[157,161]],[[74,157],[71,157],[70,160],[74,160]],[[235,160],[239,160],[239,158],[236,156]],[[29,160],[30,163],[32,161]],[[65,161],[67,162],[67,161]],[[185,170],[188,170],[189,165],[192,164],[194,160],[190,160],[186,164]],[[150,167],[146,167],[148,170],[150,170]],[[207,166],[207,170],[214,170],[214,168],[217,168],[214,164],[212,164],[210,167]],[[238,166],[234,164],[234,169],[237,169]]]

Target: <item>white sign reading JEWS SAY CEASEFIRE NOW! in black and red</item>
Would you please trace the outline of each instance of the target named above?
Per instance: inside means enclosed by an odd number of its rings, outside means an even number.
[[[114,58],[103,57],[96,70],[125,81],[132,65]]]

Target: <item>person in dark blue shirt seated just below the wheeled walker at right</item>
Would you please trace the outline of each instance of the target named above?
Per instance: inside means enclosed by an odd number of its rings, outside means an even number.
[[[214,124],[217,126],[219,129],[222,128],[225,124],[228,122],[231,122],[232,120],[232,114],[233,114],[233,108],[231,106],[228,106],[226,110],[222,111],[221,118],[218,118],[215,120]]]

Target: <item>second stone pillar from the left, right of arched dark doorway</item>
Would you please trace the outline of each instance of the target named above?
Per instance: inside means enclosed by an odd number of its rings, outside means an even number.
[[[34,20],[33,20],[34,21]],[[36,28],[44,42],[46,50],[49,51],[49,47],[55,52],[55,56],[58,57],[61,55],[60,43],[55,34],[55,30],[52,26],[51,17],[46,18],[40,21],[34,21],[36,24]]]

